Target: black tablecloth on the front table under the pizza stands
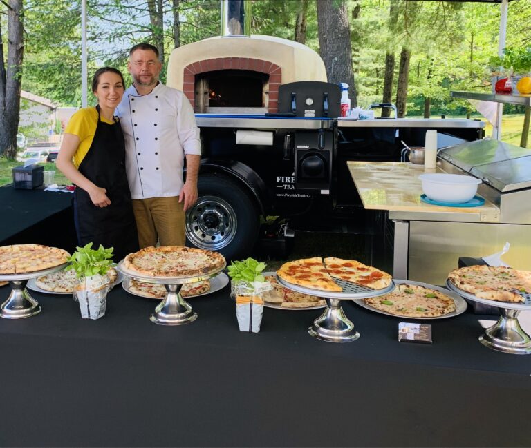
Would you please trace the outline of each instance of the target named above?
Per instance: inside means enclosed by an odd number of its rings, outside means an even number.
[[[32,295],[42,313],[0,320],[2,446],[530,444],[531,358],[483,347],[477,315],[407,344],[399,319],[347,301],[361,337],[331,344],[307,333],[319,310],[265,309],[260,333],[239,332],[227,288],[190,299],[182,327],[120,287],[96,321]]]

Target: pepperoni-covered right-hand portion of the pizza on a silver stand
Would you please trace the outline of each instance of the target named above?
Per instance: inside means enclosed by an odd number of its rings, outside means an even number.
[[[366,266],[356,260],[325,258],[324,266],[332,277],[361,284],[371,289],[384,289],[391,284],[392,277],[380,269]]]

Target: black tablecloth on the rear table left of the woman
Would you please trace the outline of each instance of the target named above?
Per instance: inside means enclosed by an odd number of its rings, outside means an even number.
[[[72,193],[0,188],[0,246],[46,244],[75,250]]]

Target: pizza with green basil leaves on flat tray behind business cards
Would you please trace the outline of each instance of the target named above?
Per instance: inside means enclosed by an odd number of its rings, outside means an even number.
[[[409,318],[435,318],[456,311],[454,299],[436,289],[399,284],[392,293],[365,299],[380,311]]]

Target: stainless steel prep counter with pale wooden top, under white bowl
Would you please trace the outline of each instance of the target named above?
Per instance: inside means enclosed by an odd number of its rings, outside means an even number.
[[[420,201],[422,186],[418,175],[425,173],[422,165],[347,164],[364,208],[388,211],[391,225],[387,226],[384,239],[389,242],[386,246],[393,247],[393,277],[444,284],[459,257],[490,255],[501,251],[505,242],[510,242],[511,249],[503,261],[516,269],[531,270],[531,225],[525,224],[525,209],[515,217],[507,213],[504,216],[495,197],[483,193],[492,187],[480,186],[483,189],[479,194],[485,197],[481,207],[432,206]],[[444,161],[443,166],[447,165]],[[431,172],[444,171],[438,167]],[[529,202],[525,190],[503,196],[519,198],[519,210]],[[505,208],[515,207],[505,204]]]

